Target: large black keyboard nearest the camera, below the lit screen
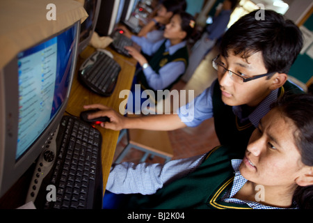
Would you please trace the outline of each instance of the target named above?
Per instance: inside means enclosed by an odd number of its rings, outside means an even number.
[[[48,143],[38,158],[27,200],[35,199],[36,208],[102,208],[101,133],[63,116],[55,145]]]

